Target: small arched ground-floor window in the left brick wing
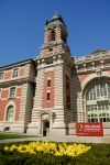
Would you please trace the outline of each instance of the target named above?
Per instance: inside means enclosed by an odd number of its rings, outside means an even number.
[[[14,108],[13,108],[13,106],[8,107],[6,116],[7,116],[6,121],[13,121],[14,120]]]

